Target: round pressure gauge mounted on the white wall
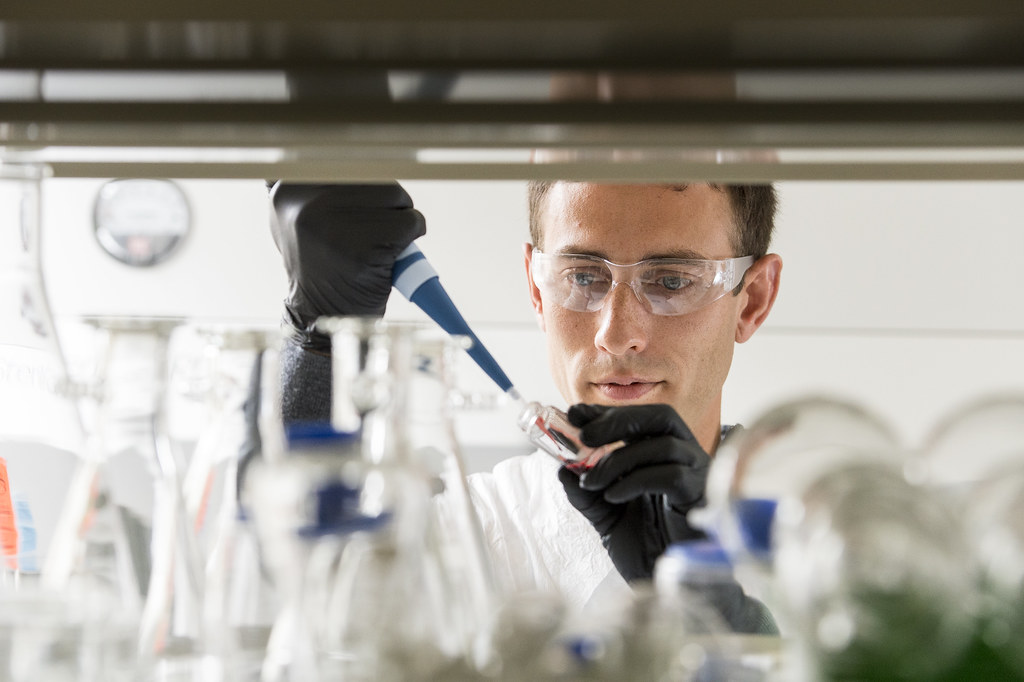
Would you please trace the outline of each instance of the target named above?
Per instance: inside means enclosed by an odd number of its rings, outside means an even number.
[[[103,251],[128,265],[155,265],[170,256],[191,227],[188,200],[170,180],[111,180],[93,213]]]

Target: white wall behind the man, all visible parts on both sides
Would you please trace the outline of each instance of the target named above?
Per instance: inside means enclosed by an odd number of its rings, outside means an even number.
[[[133,269],[91,233],[99,180],[49,180],[45,267],[55,313],[279,318],[285,278],[259,181],[181,181],[196,229],[170,261]],[[530,398],[560,401],[526,298],[522,182],[407,181],[427,217],[420,242],[477,335]],[[946,411],[1024,391],[1024,183],[800,182],[779,185],[774,251],[782,290],[765,327],[737,347],[724,419],[751,422],[808,392],[862,401],[908,444]],[[397,297],[388,316],[423,318]],[[468,360],[470,390],[495,389]],[[484,467],[523,447],[503,411],[463,417]],[[489,456],[488,456],[489,453]]]

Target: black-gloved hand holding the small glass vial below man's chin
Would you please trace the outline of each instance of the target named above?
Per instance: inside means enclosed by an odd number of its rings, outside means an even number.
[[[586,445],[626,441],[580,475],[558,472],[623,578],[650,579],[670,544],[705,537],[686,513],[703,504],[711,458],[671,406],[574,404],[567,416]]]

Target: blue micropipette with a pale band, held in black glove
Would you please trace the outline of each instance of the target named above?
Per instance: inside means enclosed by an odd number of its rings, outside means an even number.
[[[430,315],[430,318],[449,334],[456,334],[468,337],[473,345],[466,352],[472,357],[480,369],[490,377],[499,388],[505,391],[509,397],[521,401],[519,391],[512,385],[498,360],[487,352],[487,349],[480,343],[480,340],[473,334],[469,324],[459,312],[452,298],[444,291],[437,271],[427,261],[426,256],[420,251],[420,247],[415,244],[398,254],[392,272],[392,284],[402,296],[415,303],[421,310]]]

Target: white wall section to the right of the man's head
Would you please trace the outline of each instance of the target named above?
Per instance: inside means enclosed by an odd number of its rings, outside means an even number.
[[[1024,392],[1024,183],[780,185],[782,288],[737,348],[726,419],[831,392],[920,444],[976,397]]]

